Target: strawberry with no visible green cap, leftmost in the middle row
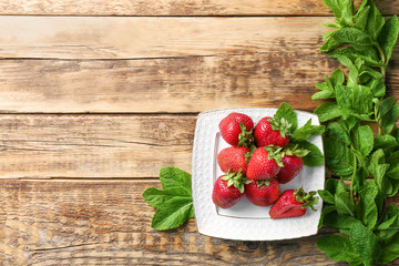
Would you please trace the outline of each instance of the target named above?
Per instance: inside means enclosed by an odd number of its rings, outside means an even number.
[[[245,175],[247,168],[245,153],[248,152],[249,147],[231,146],[223,149],[217,154],[217,163],[224,173],[241,171]]]

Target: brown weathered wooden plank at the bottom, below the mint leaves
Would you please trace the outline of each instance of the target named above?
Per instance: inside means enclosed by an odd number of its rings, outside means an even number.
[[[341,265],[321,254],[327,234],[282,242],[200,235],[194,221],[150,227],[141,194],[153,182],[0,181],[2,265]]]

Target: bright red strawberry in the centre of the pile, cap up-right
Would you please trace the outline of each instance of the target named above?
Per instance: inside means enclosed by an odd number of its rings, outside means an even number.
[[[282,147],[258,147],[250,156],[246,176],[248,180],[269,180],[278,174],[282,164]]]

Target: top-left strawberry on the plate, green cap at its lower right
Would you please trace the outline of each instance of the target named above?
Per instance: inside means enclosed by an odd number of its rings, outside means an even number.
[[[229,113],[219,123],[222,137],[233,146],[250,146],[254,142],[253,120],[242,113]]]

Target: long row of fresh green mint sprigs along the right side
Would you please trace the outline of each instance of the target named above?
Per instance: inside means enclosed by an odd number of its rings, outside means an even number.
[[[327,122],[326,164],[335,173],[318,192],[325,203],[319,226],[339,232],[317,245],[331,259],[350,265],[388,264],[399,257],[399,207],[386,204],[399,191],[399,104],[385,98],[385,78],[399,21],[396,16],[385,19],[372,0],[358,8],[351,0],[324,2],[336,17],[327,27],[336,30],[325,34],[320,51],[348,74],[335,70],[315,84],[319,92],[313,95],[329,100],[315,113]]]

